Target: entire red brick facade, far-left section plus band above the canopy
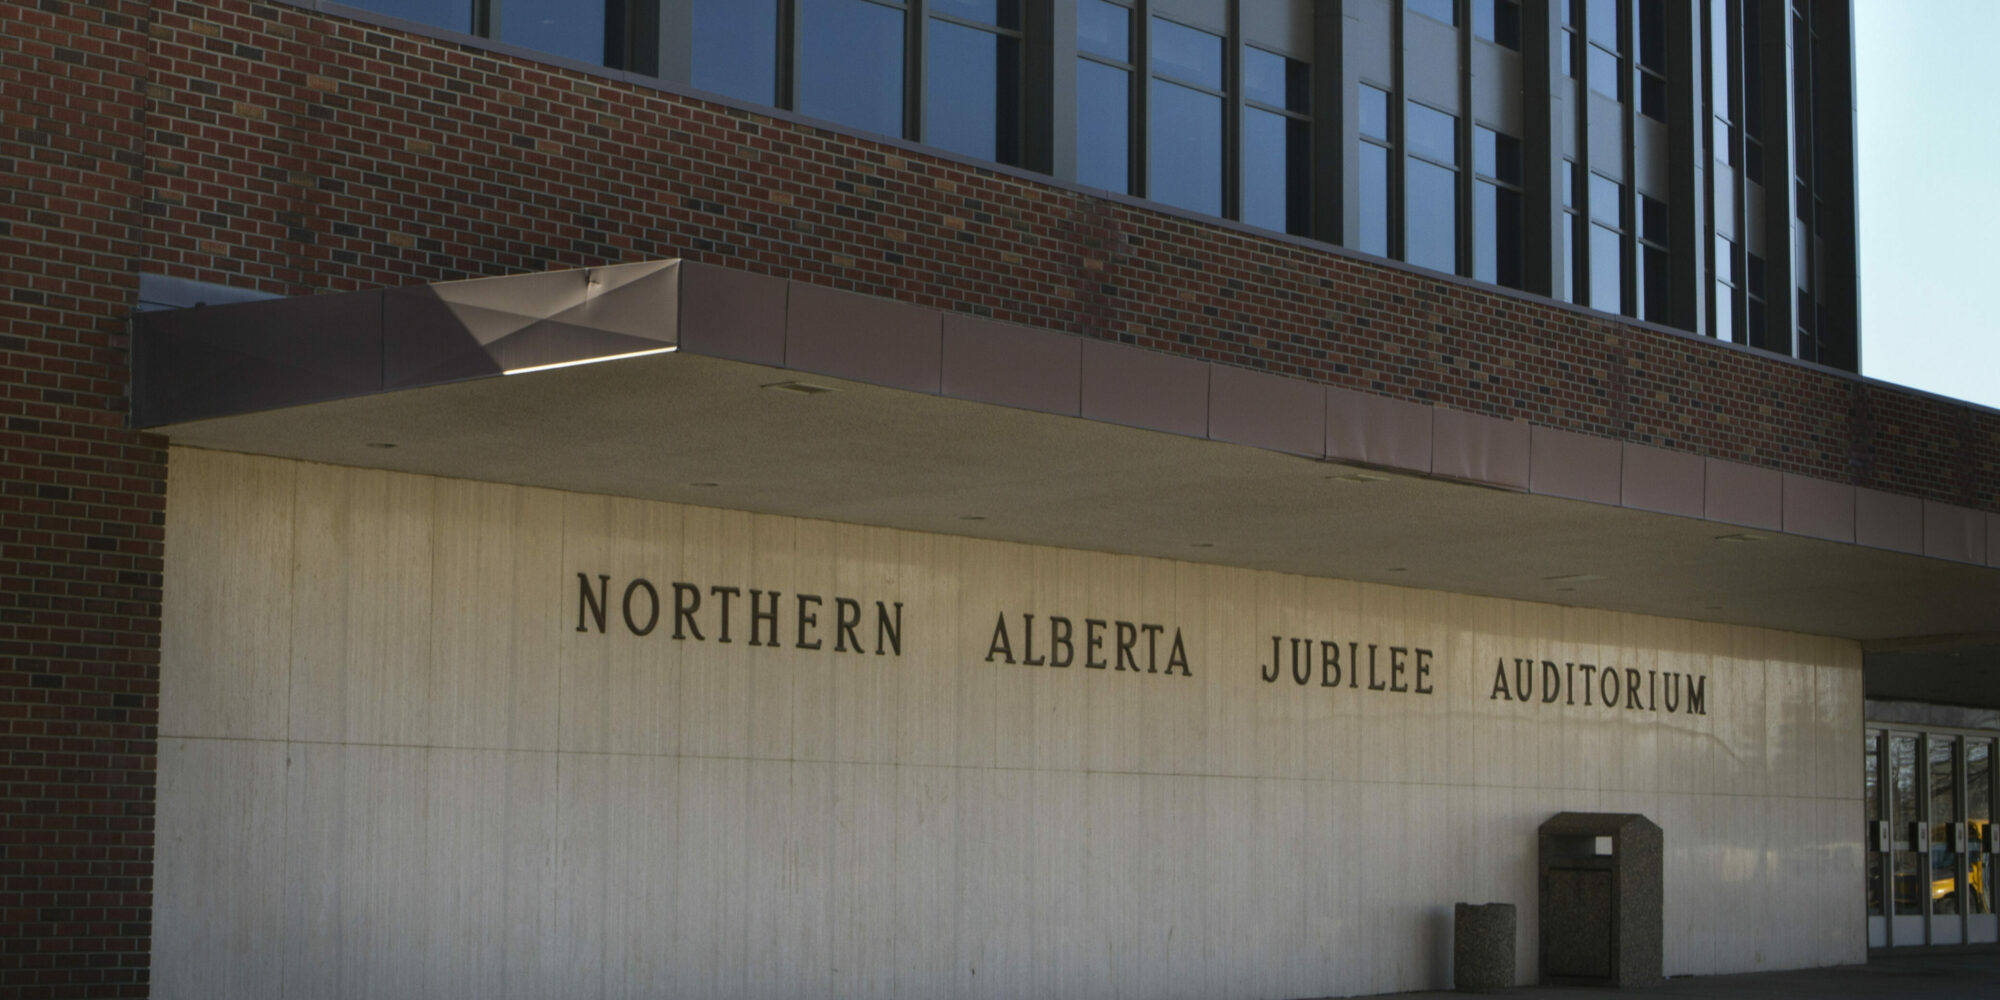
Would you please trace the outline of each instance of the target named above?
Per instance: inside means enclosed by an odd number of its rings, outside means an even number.
[[[0,2],[0,992],[142,996],[164,450],[142,270],[682,256],[2000,510],[2000,414],[286,4]]]

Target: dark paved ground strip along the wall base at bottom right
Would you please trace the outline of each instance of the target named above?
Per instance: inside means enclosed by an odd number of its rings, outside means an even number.
[[[1478,994],[1420,992],[1394,994],[1396,1000],[1444,1000]],[[1756,972],[1748,976],[1682,976],[1652,990],[1594,990],[1582,986],[1520,986],[1508,1000],[1996,1000],[2000,998],[2000,952],[1896,956],[1866,966],[1814,968],[1804,972]]]

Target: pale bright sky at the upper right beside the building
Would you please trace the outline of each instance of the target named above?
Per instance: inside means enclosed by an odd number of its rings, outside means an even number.
[[[1854,0],[1862,374],[2000,410],[2000,0]]]

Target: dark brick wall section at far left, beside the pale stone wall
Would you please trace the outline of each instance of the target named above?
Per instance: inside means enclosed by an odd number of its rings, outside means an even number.
[[[146,996],[166,452],[124,430],[148,6],[0,2],[0,996]]]

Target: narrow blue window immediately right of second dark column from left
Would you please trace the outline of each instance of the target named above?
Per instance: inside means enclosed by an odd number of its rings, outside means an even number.
[[[1076,10],[1076,180],[1132,192],[1132,12],[1104,0]]]

